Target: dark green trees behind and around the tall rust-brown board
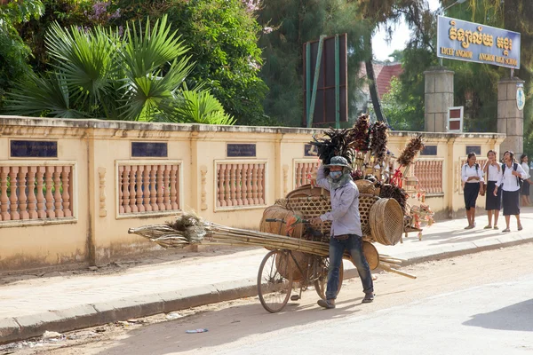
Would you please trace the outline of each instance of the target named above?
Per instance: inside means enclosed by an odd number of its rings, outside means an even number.
[[[321,35],[347,33],[348,40],[348,112],[357,114],[355,104],[362,81],[358,80],[362,59],[362,34],[368,29],[360,18],[355,2],[316,0],[298,2],[269,0],[259,12],[259,23],[267,31],[259,39],[265,64],[261,77],[270,91],[265,99],[265,113],[283,125],[300,126],[303,121],[303,44]],[[272,31],[271,31],[272,30]]]

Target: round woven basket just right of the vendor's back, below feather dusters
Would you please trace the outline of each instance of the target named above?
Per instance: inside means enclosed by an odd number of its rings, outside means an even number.
[[[370,208],[372,238],[383,245],[395,245],[402,239],[403,212],[394,199],[379,199]]]

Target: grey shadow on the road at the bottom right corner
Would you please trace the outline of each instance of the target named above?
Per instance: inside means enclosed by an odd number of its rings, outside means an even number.
[[[463,323],[465,326],[489,329],[533,332],[533,299],[501,308],[494,312],[481,313]]]

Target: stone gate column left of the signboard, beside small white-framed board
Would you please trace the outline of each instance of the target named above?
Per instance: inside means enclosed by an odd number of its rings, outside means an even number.
[[[434,67],[426,75],[425,124],[426,132],[446,132],[448,108],[453,106],[453,75],[446,67]]]

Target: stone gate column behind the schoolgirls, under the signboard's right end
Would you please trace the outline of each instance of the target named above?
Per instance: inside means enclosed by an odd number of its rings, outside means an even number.
[[[519,110],[516,104],[516,90],[518,84],[523,83],[517,77],[497,83],[497,132],[507,135],[500,145],[500,155],[511,150],[514,156],[520,157],[524,151],[524,111]]]

